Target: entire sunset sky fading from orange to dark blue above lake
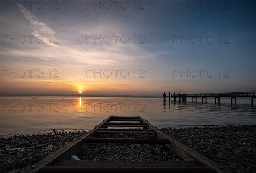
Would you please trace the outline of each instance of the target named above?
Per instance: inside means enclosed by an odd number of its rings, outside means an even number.
[[[0,95],[256,91],[256,1],[0,3]]]

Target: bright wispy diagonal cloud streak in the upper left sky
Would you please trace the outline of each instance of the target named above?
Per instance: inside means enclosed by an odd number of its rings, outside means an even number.
[[[31,12],[29,12],[25,7],[23,7],[20,4],[19,4],[19,6],[20,6],[20,11],[24,15],[24,17],[30,22],[30,26],[31,26],[31,28],[34,31],[32,34],[35,37],[41,39],[47,45],[51,45],[51,46],[57,47],[58,45],[52,43],[51,39],[49,39],[49,37],[52,38],[55,35],[57,35],[52,30],[52,28],[50,28],[43,21],[41,21],[40,19],[35,17],[35,15],[32,14]]]

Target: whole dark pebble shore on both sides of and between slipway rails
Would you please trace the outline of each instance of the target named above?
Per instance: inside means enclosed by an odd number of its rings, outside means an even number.
[[[174,139],[191,147],[214,162],[235,173],[256,171],[256,125],[222,125],[187,128],[160,128]],[[85,134],[86,131],[52,130],[49,133],[0,137],[0,172],[18,173],[44,159],[49,154]],[[124,135],[125,136],[125,135]],[[113,137],[113,136],[112,136]],[[141,137],[141,136],[137,136]],[[88,148],[89,147],[89,148]],[[175,160],[166,148],[143,145],[123,145],[113,156],[104,154],[111,145],[87,146],[88,160]],[[122,152],[120,150],[135,152]],[[123,147],[123,148],[122,148]],[[144,154],[140,153],[143,150]],[[153,152],[153,153],[152,153]],[[116,155],[118,154],[118,156]],[[170,155],[170,157],[169,157]],[[88,155],[89,156],[89,155]],[[83,157],[83,156],[81,156]],[[82,158],[83,159],[83,158]]]

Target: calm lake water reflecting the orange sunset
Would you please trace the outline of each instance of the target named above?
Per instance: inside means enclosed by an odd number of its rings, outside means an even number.
[[[36,99],[34,99],[36,98]],[[217,101],[218,102],[218,101]],[[32,134],[48,130],[89,130],[108,116],[142,116],[152,125],[184,127],[256,124],[256,100],[214,98],[198,102],[163,102],[161,98],[112,97],[0,97],[0,135]]]

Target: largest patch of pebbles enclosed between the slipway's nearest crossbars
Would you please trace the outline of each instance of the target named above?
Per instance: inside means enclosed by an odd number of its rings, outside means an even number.
[[[91,144],[84,145],[81,160],[111,161],[179,161],[182,160],[166,145],[156,144]]]

